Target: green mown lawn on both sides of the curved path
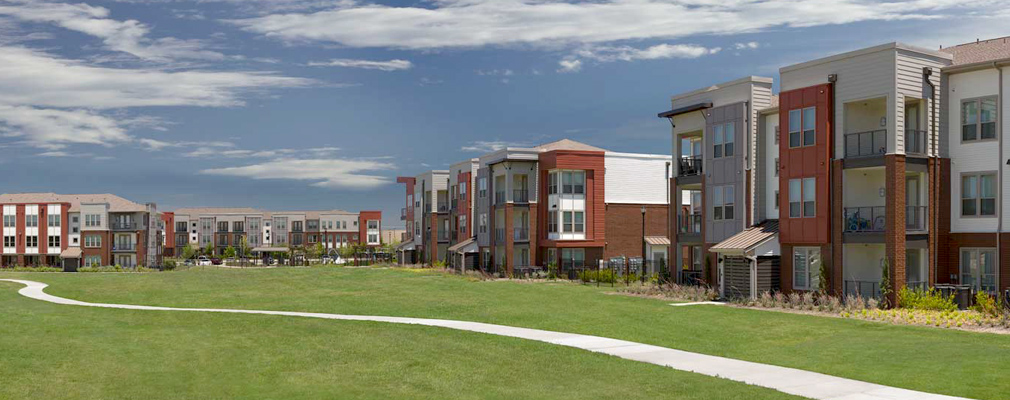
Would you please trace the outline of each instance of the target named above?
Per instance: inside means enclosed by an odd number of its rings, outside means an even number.
[[[1010,399],[1010,380],[1005,379],[1005,372],[1010,371],[1010,336],[996,334],[893,326],[719,306],[671,307],[665,301],[610,295],[607,294],[610,292],[607,288],[567,283],[471,282],[435,272],[405,270],[318,268],[240,271],[208,268],[204,271],[162,274],[0,274],[0,278],[7,277],[45,282],[50,285],[46,289],[48,293],[86,301],[464,319],[629,339],[926,392],[980,399]],[[747,396],[759,398],[763,395],[781,396],[776,392],[741,384],[637,365],[577,349],[556,348],[546,344],[476,333],[360,322],[305,321],[298,318],[277,320],[274,317],[260,316],[180,316],[120,310],[82,310],[38,304],[37,301],[15,298],[13,290],[6,292],[8,293],[0,293],[0,304],[4,307],[0,310],[3,310],[4,320],[10,319],[12,313],[17,315],[22,308],[36,310],[36,313],[46,316],[60,315],[69,320],[43,324],[36,320],[38,318],[28,318],[23,322],[30,327],[27,330],[41,330],[43,333],[36,332],[24,337],[59,337],[67,326],[99,329],[96,325],[109,324],[116,328],[114,335],[122,334],[125,338],[110,339],[101,348],[111,352],[109,346],[119,345],[125,340],[137,346],[134,352],[128,353],[135,355],[136,363],[150,363],[152,358],[146,357],[146,353],[162,352],[164,357],[173,359],[189,357],[175,355],[174,352],[179,348],[183,348],[181,352],[184,355],[190,355],[190,352],[202,355],[192,357],[199,362],[193,367],[187,367],[185,363],[180,366],[181,361],[174,361],[174,367],[171,368],[184,370],[173,370],[174,374],[182,374],[188,379],[163,383],[172,387],[184,385],[188,390],[195,391],[188,392],[190,395],[208,390],[214,383],[213,377],[223,374],[229,380],[266,380],[269,384],[264,385],[268,388],[286,388],[278,390],[312,397],[313,393],[301,392],[304,388],[298,389],[300,386],[285,387],[279,382],[289,385],[293,382],[309,383],[310,381],[293,380],[289,375],[311,380],[323,374],[320,371],[326,371],[325,374],[331,375],[334,382],[327,382],[329,386],[325,389],[316,389],[349,390],[346,393],[360,396],[392,393],[396,397],[424,397],[430,393],[441,393],[442,396],[452,397],[484,397],[485,394],[491,394],[501,397],[659,395],[728,398],[742,397],[743,391],[752,392]],[[167,320],[171,320],[169,323],[172,326],[168,332],[163,330]],[[20,336],[20,330],[24,329],[0,327],[0,334],[5,337],[5,340],[0,341],[7,343],[7,346],[16,346],[13,349],[2,348],[0,351],[4,353],[12,351],[62,354],[57,348],[44,346],[27,346],[22,349],[22,343],[15,344],[12,341],[16,340],[9,340],[12,335]],[[99,330],[104,332],[107,329]],[[87,339],[109,339],[100,332],[95,332],[93,336],[90,333],[77,334],[76,329],[74,332],[74,340],[87,342]],[[158,336],[158,339],[141,339],[148,335]],[[303,341],[326,343],[330,340],[337,342],[332,346],[303,344]],[[60,341],[54,341],[58,342]],[[163,342],[164,347],[148,349]],[[200,349],[185,347],[196,342],[200,343]],[[339,368],[324,361],[340,357],[341,352],[347,351],[345,346],[354,346],[359,351],[359,347],[376,349],[362,351],[368,353],[369,362],[359,362],[355,367]],[[281,348],[276,348],[275,353],[262,354],[270,352],[263,349],[266,347]],[[453,347],[465,348],[460,348],[459,352],[449,349]],[[233,351],[234,356],[226,353],[228,357],[217,360],[207,358],[206,353],[199,353],[205,351],[212,354],[214,349],[221,348]],[[117,352],[117,356],[123,356],[123,351]],[[287,355],[301,355],[302,352],[306,352],[304,357],[313,358],[313,361],[303,365],[284,359]],[[473,356],[473,352],[480,356]],[[322,360],[314,359],[317,356]],[[410,364],[397,364],[396,361],[401,357],[422,363],[427,368],[403,371],[403,367]],[[260,361],[246,364],[245,358]],[[443,360],[446,358],[451,363]],[[24,358],[18,358],[22,359]],[[427,359],[441,362],[426,362]],[[110,358],[109,362],[112,361]],[[237,363],[238,367],[228,369],[215,364],[225,361]],[[346,360],[340,359],[340,362],[344,363]],[[66,363],[73,364],[71,361]],[[273,368],[277,364],[284,367]],[[348,379],[348,368],[354,371],[375,371],[380,365],[391,364],[393,367],[389,369],[401,374],[398,379],[387,378],[380,382],[367,379],[362,381],[366,388],[355,382],[335,383],[341,378]],[[290,371],[292,366],[305,366],[312,371],[294,373]],[[439,366],[444,371],[431,371],[433,366]],[[579,368],[573,371],[575,366]],[[0,376],[9,376],[2,370],[9,367],[0,363]],[[269,373],[261,373],[259,370],[268,367]],[[218,371],[218,368],[223,371]],[[155,370],[163,371],[158,368]],[[359,374],[349,376],[358,377]],[[369,379],[380,379],[372,374],[368,376]],[[443,386],[449,384],[443,381],[457,382],[464,379],[464,376],[466,383]],[[475,379],[479,379],[479,382],[473,382]],[[191,381],[192,386],[185,386]],[[401,384],[401,381],[407,383]],[[659,382],[663,384],[660,385]],[[239,386],[239,383],[231,382],[225,388],[240,390],[243,386]],[[38,384],[43,385],[44,382]],[[423,389],[415,385],[421,385]],[[0,385],[0,391],[4,390],[2,386]],[[402,389],[403,392],[394,391],[397,389]],[[729,390],[739,391],[740,394],[726,392]],[[319,393],[328,392],[314,394]]]

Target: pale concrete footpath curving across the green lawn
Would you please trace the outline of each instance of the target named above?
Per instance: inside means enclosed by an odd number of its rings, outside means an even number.
[[[500,336],[519,337],[529,340],[543,341],[552,344],[587,349],[595,353],[619,357],[658,366],[670,367],[675,370],[687,371],[710,377],[743,382],[778,390],[783,393],[823,400],[939,400],[963,399],[916,392],[907,389],[892,388],[878,384],[855,381],[830,375],[812,373],[792,368],[769,366],[715,356],[699,355],[634,341],[618,340],[607,337],[586,334],[554,332],[550,330],[520,328],[514,326],[495,325],[482,322],[454,321],[448,319],[405,318],[390,316],[342,315],[317,312],[294,311],[261,311],[235,310],[218,308],[174,308],[139,306],[129,304],[101,304],[65,299],[45,294],[43,283],[21,281],[16,279],[0,279],[0,281],[15,282],[25,285],[18,290],[22,296],[57,304],[85,307],[120,308],[126,310],[146,311],[199,311],[225,312],[233,314],[265,314],[286,315],[309,318],[340,319],[350,321],[377,321],[390,323],[405,323],[412,325],[438,326],[450,329],[469,330],[497,334]],[[868,366],[868,368],[870,368]]]

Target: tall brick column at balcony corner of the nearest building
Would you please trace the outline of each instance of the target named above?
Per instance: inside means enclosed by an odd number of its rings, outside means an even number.
[[[905,286],[905,156],[887,155],[884,166],[887,182],[885,255],[891,270],[890,300],[895,304],[898,290]]]

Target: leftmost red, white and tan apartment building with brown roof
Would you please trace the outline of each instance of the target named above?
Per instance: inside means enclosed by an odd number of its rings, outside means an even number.
[[[3,247],[0,265],[160,266],[162,216],[154,203],[112,194],[0,195]]]

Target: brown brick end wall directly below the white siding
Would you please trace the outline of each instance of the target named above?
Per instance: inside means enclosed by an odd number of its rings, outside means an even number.
[[[645,207],[644,218],[642,207]],[[604,260],[619,256],[643,257],[642,223],[645,224],[646,236],[667,236],[668,212],[665,204],[607,204],[605,220],[608,234]]]

